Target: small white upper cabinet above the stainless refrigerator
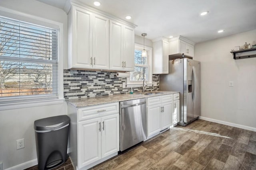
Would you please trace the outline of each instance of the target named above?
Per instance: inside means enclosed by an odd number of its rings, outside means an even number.
[[[169,39],[169,55],[194,57],[194,43],[182,36]]]

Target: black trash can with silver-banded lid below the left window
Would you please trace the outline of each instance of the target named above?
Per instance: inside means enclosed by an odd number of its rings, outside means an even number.
[[[50,170],[66,162],[70,118],[47,117],[34,122],[39,170]]]

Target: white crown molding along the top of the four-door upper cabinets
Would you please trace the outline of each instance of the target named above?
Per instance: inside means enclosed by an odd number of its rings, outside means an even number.
[[[130,27],[133,27],[133,28],[138,26],[138,25],[135,25],[134,23],[127,22],[125,20],[122,20],[121,18],[118,18],[116,16],[108,14],[107,12],[104,12],[104,11],[98,10],[96,8],[93,8],[91,6],[88,6],[86,4],[83,4],[83,3],[81,3],[81,2],[79,2],[77,0],[70,0],[70,4],[71,4],[71,6],[72,5],[78,6],[80,8],[85,9],[85,10],[89,10],[90,12],[93,12],[95,14],[98,14],[98,15],[101,15],[101,16],[105,16],[105,17],[109,18],[110,20],[115,20],[115,21],[118,21],[118,22],[123,23],[125,25],[129,25]]]

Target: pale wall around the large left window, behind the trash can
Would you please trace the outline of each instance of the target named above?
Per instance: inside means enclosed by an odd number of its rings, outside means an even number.
[[[63,10],[48,6],[36,0],[0,0],[0,7],[9,8],[24,14],[63,23],[64,51],[67,56],[67,16]],[[64,60],[66,64],[66,60]],[[0,162],[4,169],[30,161],[35,162],[36,143],[34,121],[37,119],[67,114],[66,102],[49,106],[28,107],[0,111]],[[24,138],[25,148],[16,150],[16,140]],[[36,162],[37,164],[37,162]],[[25,167],[23,167],[25,168]],[[28,167],[27,167],[28,168]],[[21,169],[16,168],[16,169]]]

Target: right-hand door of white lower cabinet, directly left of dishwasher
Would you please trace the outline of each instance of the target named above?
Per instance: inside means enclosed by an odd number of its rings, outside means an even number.
[[[119,114],[101,118],[102,158],[119,151]]]

